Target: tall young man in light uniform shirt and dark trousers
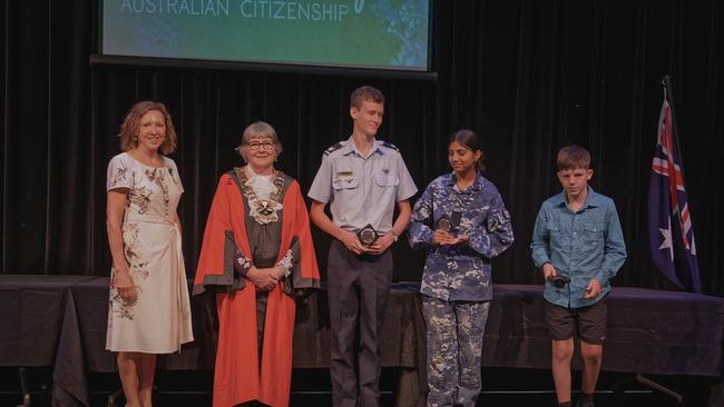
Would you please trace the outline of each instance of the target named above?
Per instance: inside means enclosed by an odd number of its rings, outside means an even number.
[[[350,105],[352,136],[324,151],[307,196],[310,218],[334,238],[326,272],[333,405],[379,406],[379,332],[392,282],[388,249],[404,232],[409,199],[418,189],[400,150],[375,139],[384,115],[382,92],[358,88]],[[332,219],[324,212],[327,204]]]

